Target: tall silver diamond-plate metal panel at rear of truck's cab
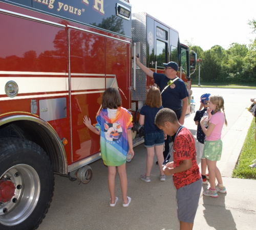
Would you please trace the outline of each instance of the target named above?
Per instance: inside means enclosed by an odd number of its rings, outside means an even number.
[[[146,66],[146,13],[132,14],[132,38],[133,43],[140,41],[140,62]],[[133,81],[132,73],[132,85]],[[142,70],[136,70],[136,90],[132,90],[132,100],[146,100],[146,74]]]

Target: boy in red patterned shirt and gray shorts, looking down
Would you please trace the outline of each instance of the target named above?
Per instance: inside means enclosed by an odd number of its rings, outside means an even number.
[[[157,113],[155,124],[167,135],[177,133],[173,145],[174,162],[167,163],[163,172],[167,176],[173,174],[180,229],[191,230],[202,190],[194,136],[178,122],[175,112],[169,108]]]

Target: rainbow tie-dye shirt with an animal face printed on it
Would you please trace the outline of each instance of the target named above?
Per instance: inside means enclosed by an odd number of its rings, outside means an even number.
[[[100,131],[101,158],[106,166],[120,166],[126,162],[129,150],[127,129],[133,127],[132,114],[118,107],[116,118],[108,117],[108,109],[102,109],[96,116],[95,127]]]

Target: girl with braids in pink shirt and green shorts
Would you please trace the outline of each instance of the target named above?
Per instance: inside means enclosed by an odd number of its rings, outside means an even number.
[[[217,192],[227,192],[226,188],[223,186],[220,170],[216,165],[217,160],[221,159],[222,153],[221,130],[224,123],[227,125],[222,96],[211,95],[209,97],[209,108],[207,108],[207,111],[211,110],[213,111],[213,114],[211,115],[208,112],[208,128],[204,127],[203,124],[206,118],[201,119],[200,121],[201,128],[205,134],[203,157],[206,158],[210,180],[210,188],[203,191],[203,195],[218,197]],[[217,186],[215,185],[216,178],[218,181]]]

